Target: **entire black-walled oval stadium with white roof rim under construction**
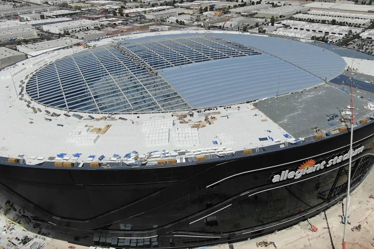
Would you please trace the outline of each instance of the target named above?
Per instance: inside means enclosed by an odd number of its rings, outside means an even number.
[[[374,163],[374,93],[355,89],[350,152],[345,69],[318,46],[206,30],[31,57],[0,71],[0,193],[28,229],[86,246],[290,227],[343,199],[350,153],[353,189]]]

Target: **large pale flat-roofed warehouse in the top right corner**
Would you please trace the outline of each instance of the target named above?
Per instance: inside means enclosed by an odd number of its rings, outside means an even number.
[[[343,4],[343,3],[308,3],[304,6],[309,7],[310,10],[332,10],[332,11],[344,11],[350,13],[374,13],[373,5],[363,4]]]

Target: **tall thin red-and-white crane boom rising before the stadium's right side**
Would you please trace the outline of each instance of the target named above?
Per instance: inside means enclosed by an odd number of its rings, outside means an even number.
[[[350,198],[350,173],[351,173],[351,166],[352,166],[352,143],[353,143],[353,123],[354,123],[354,120],[353,120],[353,90],[352,90],[352,78],[350,78],[351,80],[351,93],[350,93],[350,97],[351,97],[351,105],[350,105],[350,109],[351,109],[351,128],[350,128],[350,135],[351,135],[351,139],[350,139],[350,148],[349,148],[349,168],[348,168],[348,182],[347,182],[347,198],[346,198],[346,213],[344,215],[344,235],[343,235],[343,249],[346,249],[346,238],[347,238],[347,224],[348,224],[348,211],[349,211],[349,198]]]

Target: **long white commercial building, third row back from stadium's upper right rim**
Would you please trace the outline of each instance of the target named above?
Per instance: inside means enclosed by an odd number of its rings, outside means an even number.
[[[310,14],[296,14],[293,15],[294,19],[299,19],[299,21],[327,21],[331,23],[332,20],[336,21],[336,24],[354,25],[361,27],[368,27],[370,25],[370,19],[358,19],[358,18],[348,18],[348,17],[335,17],[335,16],[319,16]]]

